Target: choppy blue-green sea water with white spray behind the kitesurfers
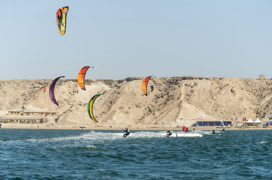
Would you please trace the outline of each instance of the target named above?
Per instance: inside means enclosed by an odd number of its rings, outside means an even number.
[[[0,129],[0,179],[272,179],[272,130],[130,132]]]

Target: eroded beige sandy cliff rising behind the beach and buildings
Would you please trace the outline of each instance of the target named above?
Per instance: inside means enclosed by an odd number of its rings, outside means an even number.
[[[148,96],[142,94],[143,77],[121,80],[85,79],[86,91],[76,79],[60,79],[55,87],[59,107],[49,98],[53,79],[0,80],[0,111],[17,110],[22,106],[58,111],[61,123],[101,125],[153,124],[200,119],[238,121],[238,117],[268,119],[272,110],[271,79],[237,79],[216,77],[151,78]],[[45,86],[46,92],[40,87]],[[93,112],[99,123],[90,120],[87,103],[97,93]],[[157,119],[155,119],[157,117]],[[190,125],[190,124],[187,124]]]

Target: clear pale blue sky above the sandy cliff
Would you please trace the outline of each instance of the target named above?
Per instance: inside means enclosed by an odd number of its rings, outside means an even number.
[[[66,33],[56,11],[69,6]],[[272,77],[272,1],[0,1],[0,79]]]

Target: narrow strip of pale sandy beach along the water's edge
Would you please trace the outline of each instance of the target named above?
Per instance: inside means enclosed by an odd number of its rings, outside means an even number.
[[[38,128],[39,125],[39,128]],[[55,126],[60,126],[60,127],[55,127]],[[122,128],[124,125],[119,125]],[[133,125],[135,126],[135,125]],[[126,126],[129,127],[130,130],[164,130],[164,128],[166,129],[170,129],[170,130],[182,130],[182,128],[177,128],[177,127],[162,127],[162,126],[158,126],[158,127],[148,127],[148,129],[146,129],[146,127],[141,127],[139,126],[139,128],[137,129],[137,125],[135,127],[133,126]],[[112,126],[112,128],[110,127],[88,127],[88,126],[84,126],[86,128],[83,128],[83,130],[121,130],[118,125],[114,125]],[[217,126],[216,126],[217,127]],[[215,128],[215,130],[221,130],[220,128],[216,128],[216,127],[188,127],[189,130],[193,130],[193,128],[195,130],[213,130],[213,128]],[[68,125],[61,125],[61,124],[54,124],[54,126],[45,126],[45,124],[3,124],[1,126],[1,129],[63,129],[63,130],[81,130],[81,128],[79,126],[68,126]],[[272,129],[272,128],[269,128]],[[225,130],[268,130],[268,128],[245,128],[245,129],[240,129],[238,127],[234,127],[234,128],[225,128]]]

